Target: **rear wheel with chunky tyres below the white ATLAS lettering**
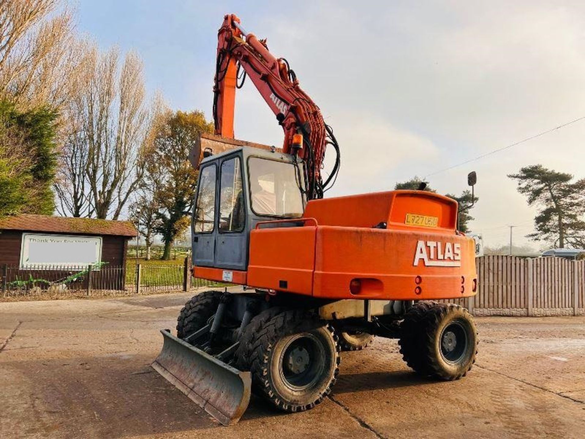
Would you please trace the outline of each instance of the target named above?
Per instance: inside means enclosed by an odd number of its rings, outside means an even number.
[[[465,376],[477,354],[477,330],[469,312],[453,303],[415,303],[401,325],[402,358],[423,376],[456,380]]]

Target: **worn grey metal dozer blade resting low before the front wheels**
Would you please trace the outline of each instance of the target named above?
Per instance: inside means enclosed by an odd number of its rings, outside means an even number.
[[[250,402],[250,372],[238,371],[161,330],[163,350],[152,367],[223,425],[235,424]]]

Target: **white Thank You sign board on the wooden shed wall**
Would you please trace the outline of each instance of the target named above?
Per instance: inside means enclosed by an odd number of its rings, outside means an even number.
[[[101,236],[22,234],[20,268],[63,269],[101,262]]]

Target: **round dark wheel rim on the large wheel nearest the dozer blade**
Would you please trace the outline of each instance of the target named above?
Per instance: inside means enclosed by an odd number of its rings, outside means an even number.
[[[280,378],[287,387],[307,389],[325,369],[325,348],[313,334],[296,334],[288,340],[279,363]]]

